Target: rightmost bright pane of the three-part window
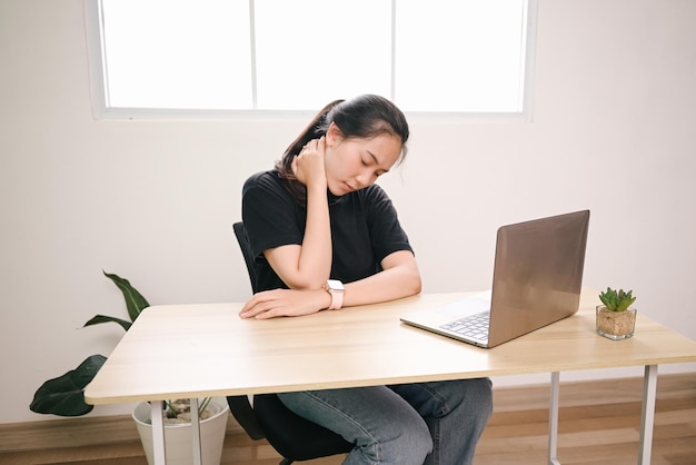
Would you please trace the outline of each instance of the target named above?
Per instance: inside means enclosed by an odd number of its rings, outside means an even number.
[[[524,0],[399,0],[395,100],[412,111],[521,111]]]

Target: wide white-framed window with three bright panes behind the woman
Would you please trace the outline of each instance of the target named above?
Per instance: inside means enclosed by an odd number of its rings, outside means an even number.
[[[86,0],[101,117],[529,111],[538,0]]]

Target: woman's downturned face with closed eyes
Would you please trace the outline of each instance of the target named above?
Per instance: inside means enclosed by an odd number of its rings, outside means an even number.
[[[335,196],[364,189],[389,171],[401,156],[401,139],[380,135],[371,139],[345,138],[334,123],[326,135],[326,177]]]

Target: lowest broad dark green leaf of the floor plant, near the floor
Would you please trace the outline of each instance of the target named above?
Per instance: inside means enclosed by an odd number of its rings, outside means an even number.
[[[84,387],[107,360],[103,355],[87,357],[76,369],[49,379],[33,395],[29,408],[38,414],[80,416],[95,408],[84,402]]]

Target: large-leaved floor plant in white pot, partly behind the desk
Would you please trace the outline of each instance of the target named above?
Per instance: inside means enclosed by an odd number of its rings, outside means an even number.
[[[102,323],[116,323],[128,332],[140,313],[150,306],[148,300],[128,279],[103,271],[105,276],[121,290],[130,320],[106,315],[96,315],[84,327]],[[90,355],[77,368],[47,380],[37,389],[29,408],[39,414],[58,416],[81,416],[92,410],[93,405],[84,402],[84,388],[106,363],[103,355]],[[205,398],[199,402],[200,435],[203,445],[203,464],[219,464],[227,428],[227,400]],[[168,400],[165,412],[165,439],[168,464],[189,464],[192,459],[190,404],[188,400]],[[150,405],[139,404],[133,410],[133,419],[142,442],[148,463],[152,463],[152,427]]]

